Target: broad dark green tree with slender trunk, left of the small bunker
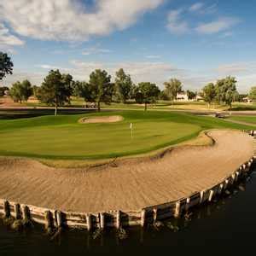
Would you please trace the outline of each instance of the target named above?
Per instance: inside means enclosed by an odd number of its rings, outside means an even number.
[[[70,91],[60,71],[51,70],[40,89],[38,90],[38,99],[49,105],[55,106],[55,115],[57,115],[58,107],[69,102]]]

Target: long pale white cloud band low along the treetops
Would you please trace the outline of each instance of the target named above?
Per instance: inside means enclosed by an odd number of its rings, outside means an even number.
[[[183,70],[172,66],[169,63],[160,61],[143,62],[93,62],[93,61],[70,61],[70,67],[56,67],[49,64],[38,65],[41,69],[38,72],[27,73],[15,69],[13,75],[8,76],[1,83],[11,85],[17,80],[29,79],[32,84],[40,85],[50,69],[60,69],[61,73],[70,73],[73,79],[89,80],[90,73],[96,68],[107,70],[114,78],[115,72],[123,67],[126,73],[131,74],[131,79],[135,83],[153,82],[163,88],[163,83],[167,79],[177,78],[183,83],[184,89],[201,90],[209,82],[215,83],[217,79],[227,75],[234,75],[238,81],[237,89],[241,93],[247,92],[256,81],[256,62],[238,62],[220,65],[213,70]]]

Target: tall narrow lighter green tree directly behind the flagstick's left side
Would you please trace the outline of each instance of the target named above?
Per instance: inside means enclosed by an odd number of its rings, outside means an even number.
[[[132,81],[131,76],[129,74],[125,74],[123,68],[120,68],[116,73],[115,87],[119,99],[121,102],[125,103],[131,95]]]

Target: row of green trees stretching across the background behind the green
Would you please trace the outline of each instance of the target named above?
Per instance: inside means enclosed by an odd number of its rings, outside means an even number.
[[[9,56],[0,52],[0,80],[7,74],[12,74],[13,66]],[[68,73],[51,70],[41,86],[32,85],[28,80],[17,81],[12,84],[9,95],[15,102],[20,103],[26,102],[30,96],[34,95],[40,102],[55,106],[55,114],[59,107],[70,104],[71,96],[82,97],[84,102],[95,102],[98,111],[101,110],[102,102],[106,104],[126,103],[128,100],[143,103],[144,109],[147,110],[149,103],[154,103],[159,99],[173,102],[177,99],[177,94],[183,91],[183,84],[178,79],[170,79],[164,83],[164,86],[165,89],[160,90],[156,84],[150,82],[134,84],[131,76],[126,74],[123,68],[115,73],[113,82],[111,76],[101,69],[90,73],[88,82],[75,81]],[[4,90],[8,88],[0,88],[0,96],[3,95]],[[195,98],[197,94],[191,90],[187,90],[186,93],[189,99]],[[208,106],[212,102],[217,102],[218,104],[224,103],[231,108],[232,102],[239,100],[236,79],[230,76],[218,79],[215,84],[207,84],[199,95],[208,103]],[[256,101],[256,87],[252,88],[249,97]]]

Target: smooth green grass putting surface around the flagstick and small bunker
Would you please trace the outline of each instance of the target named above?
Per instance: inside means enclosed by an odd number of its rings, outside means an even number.
[[[121,115],[123,121],[80,124],[84,116]],[[130,123],[134,137],[131,139]],[[185,113],[114,111],[0,120],[0,154],[45,159],[106,159],[141,154],[196,137],[211,128],[253,129]]]

